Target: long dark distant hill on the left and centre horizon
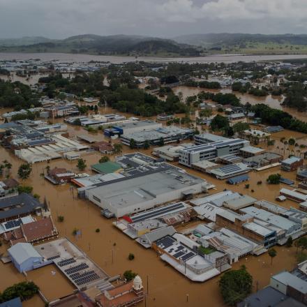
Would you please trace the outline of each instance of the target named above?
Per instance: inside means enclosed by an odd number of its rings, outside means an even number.
[[[98,36],[86,34],[63,40],[46,40],[23,45],[1,45],[0,52],[71,52],[88,54],[137,54],[159,56],[197,56],[199,48],[174,40],[144,36]]]

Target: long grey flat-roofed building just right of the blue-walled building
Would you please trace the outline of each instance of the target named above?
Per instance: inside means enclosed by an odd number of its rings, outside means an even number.
[[[134,147],[142,148],[147,142],[150,145],[168,144],[187,140],[193,137],[194,130],[186,128],[178,128],[176,126],[168,126],[156,128],[153,130],[137,131],[134,133],[125,133],[121,135],[121,142],[127,146],[130,140],[134,140]]]

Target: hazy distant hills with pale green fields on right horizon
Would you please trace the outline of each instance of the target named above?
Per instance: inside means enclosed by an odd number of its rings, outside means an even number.
[[[174,38],[177,43],[202,46],[207,50],[228,50],[231,52],[264,53],[305,53],[306,34],[246,34],[246,33],[208,33],[190,34]]]

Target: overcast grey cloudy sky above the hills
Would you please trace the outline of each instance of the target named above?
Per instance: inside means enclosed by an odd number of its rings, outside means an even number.
[[[0,38],[307,33],[307,0],[0,0]]]

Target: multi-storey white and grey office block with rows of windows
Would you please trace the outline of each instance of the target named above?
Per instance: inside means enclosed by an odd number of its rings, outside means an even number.
[[[197,137],[197,138],[196,138]],[[209,142],[210,139],[220,137],[209,133],[195,136],[195,143],[203,142],[200,145],[180,150],[179,163],[190,167],[193,163],[202,160],[216,160],[225,155],[237,155],[242,147],[248,146],[249,142],[241,139],[226,139]]]

